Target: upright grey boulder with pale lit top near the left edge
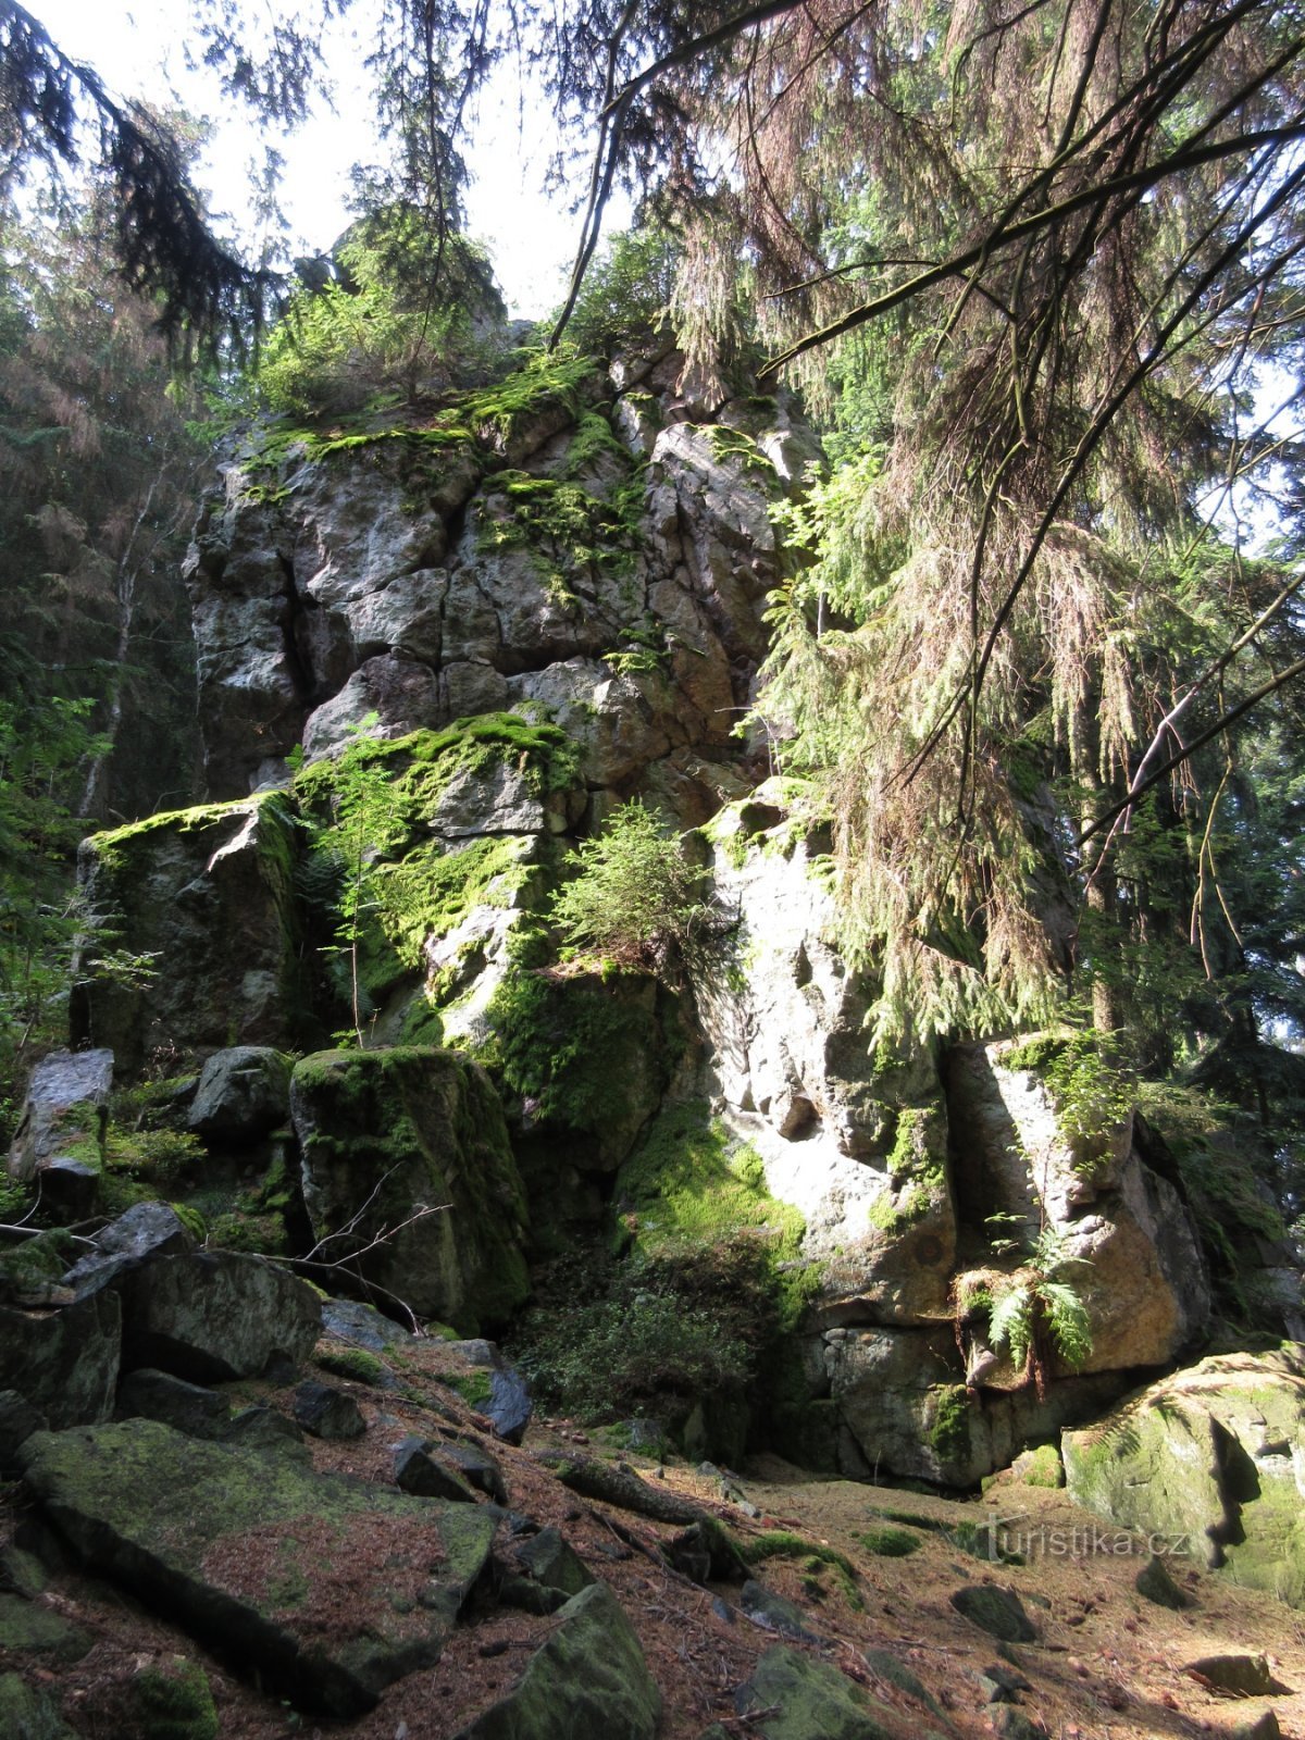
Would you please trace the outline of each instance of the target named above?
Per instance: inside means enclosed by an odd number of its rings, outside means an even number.
[[[38,1183],[45,1206],[87,1213],[104,1166],[113,1053],[52,1051],[31,1072],[9,1176]]]

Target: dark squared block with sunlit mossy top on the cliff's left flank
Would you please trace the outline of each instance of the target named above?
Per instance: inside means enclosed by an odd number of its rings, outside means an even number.
[[[153,974],[96,973],[96,929],[71,1002],[75,1042],[137,1072],[157,1049],[287,1042],[303,1007],[294,908],[298,826],[275,792],[151,816],[82,842],[78,877],[113,947]]]

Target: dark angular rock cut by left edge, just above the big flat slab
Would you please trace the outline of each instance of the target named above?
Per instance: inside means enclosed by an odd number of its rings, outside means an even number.
[[[56,1429],[108,1420],[120,1357],[113,1293],[40,1315],[0,1307],[0,1389],[17,1390]]]

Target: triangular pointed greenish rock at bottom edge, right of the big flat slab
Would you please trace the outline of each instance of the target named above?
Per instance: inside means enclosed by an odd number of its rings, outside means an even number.
[[[652,1740],[661,1693],[616,1596],[593,1583],[559,1610],[520,1683],[456,1740]]]

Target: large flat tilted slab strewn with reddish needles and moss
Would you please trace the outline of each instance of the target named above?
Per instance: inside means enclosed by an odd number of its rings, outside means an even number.
[[[324,1716],[357,1716],[438,1660],[496,1528],[472,1505],[153,1420],[42,1432],[24,1460],[28,1488],[94,1571]]]

